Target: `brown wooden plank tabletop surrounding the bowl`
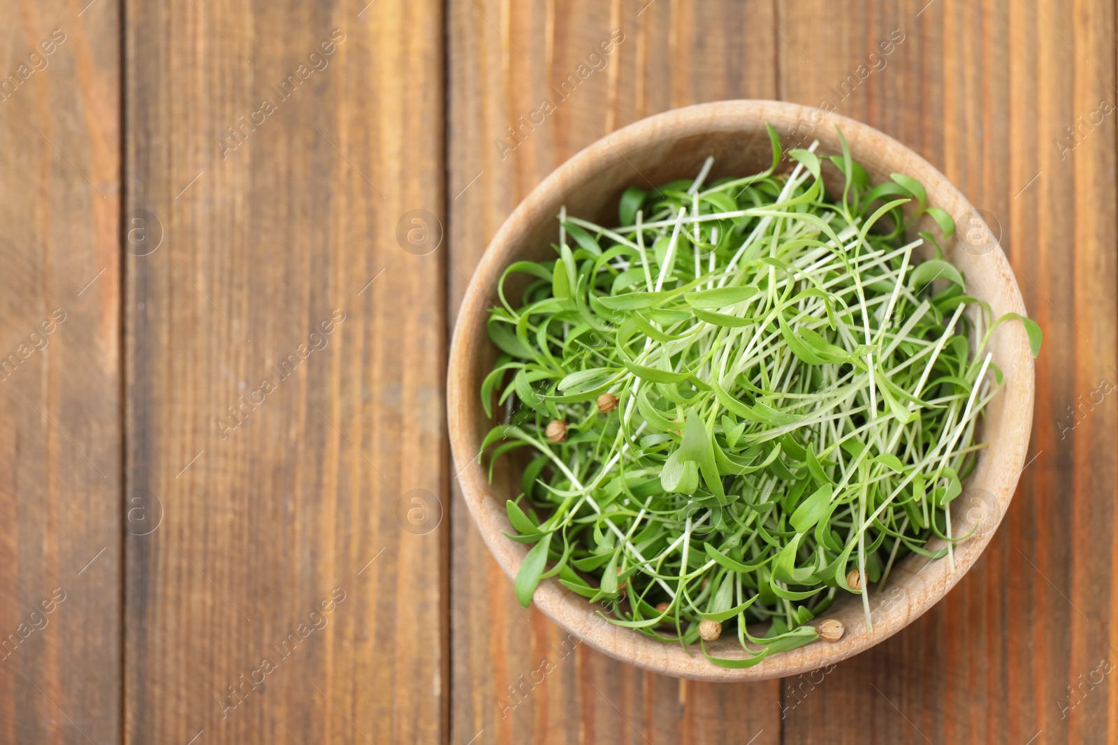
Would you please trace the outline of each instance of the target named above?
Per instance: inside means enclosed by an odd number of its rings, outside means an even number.
[[[7,3],[0,741],[1118,738],[1114,3],[366,1]],[[1032,460],[959,586],[825,674],[727,686],[517,604],[444,367],[549,171],[738,97],[918,150],[1045,341]]]

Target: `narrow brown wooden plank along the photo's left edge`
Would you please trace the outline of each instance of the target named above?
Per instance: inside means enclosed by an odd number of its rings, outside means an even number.
[[[120,6],[6,3],[0,742],[121,738]]]

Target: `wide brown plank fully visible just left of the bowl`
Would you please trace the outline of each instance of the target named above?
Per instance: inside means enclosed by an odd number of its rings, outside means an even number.
[[[444,739],[442,3],[126,8],[126,739]]]

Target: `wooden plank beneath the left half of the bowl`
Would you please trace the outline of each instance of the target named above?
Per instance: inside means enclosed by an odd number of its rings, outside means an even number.
[[[452,316],[502,221],[578,150],[674,106],[775,97],[776,20],[768,1],[452,3]],[[451,742],[779,741],[776,681],[685,684],[576,643],[517,604],[458,495],[452,518]]]

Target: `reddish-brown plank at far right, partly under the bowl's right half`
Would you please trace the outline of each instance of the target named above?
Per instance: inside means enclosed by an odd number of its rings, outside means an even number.
[[[1114,112],[1112,4],[783,9],[783,95],[831,101],[940,168],[1001,231],[1045,332],[1036,459],[986,555],[919,621],[805,688],[787,742],[1112,739],[1118,694],[1099,678],[1118,633],[1115,408],[1101,393],[1074,419],[1065,407],[1118,380],[1114,117],[1081,128],[1073,152],[1059,144],[1100,101]],[[894,31],[904,40],[882,55]]]

